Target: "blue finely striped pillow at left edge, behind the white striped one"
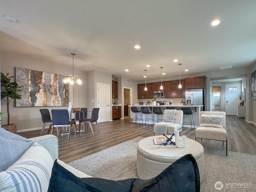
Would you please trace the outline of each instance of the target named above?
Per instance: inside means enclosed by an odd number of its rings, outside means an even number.
[[[0,171],[14,164],[33,142],[0,127]]]

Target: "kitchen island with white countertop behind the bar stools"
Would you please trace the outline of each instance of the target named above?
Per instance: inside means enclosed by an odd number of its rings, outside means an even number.
[[[152,112],[152,114],[154,115],[154,119],[157,119],[157,115],[153,113],[153,107],[161,107],[162,111],[164,112],[164,110],[166,109],[166,107],[176,107],[176,110],[180,110],[180,108],[182,107],[191,107],[192,112],[193,112],[193,118],[194,118],[194,123],[195,123],[195,128],[197,128],[199,126],[199,118],[200,118],[200,111],[202,110],[203,105],[181,105],[181,104],[173,104],[173,105],[159,105],[159,106],[154,106],[154,105],[129,105],[129,107],[137,107],[138,110],[140,111],[140,107],[148,107],[149,111]],[[132,114],[134,115],[134,114]],[[143,123],[145,123],[145,114],[142,114],[142,118],[143,118]],[[149,118],[152,118],[151,114],[149,115]],[[136,122],[135,119],[133,118],[133,122]],[[186,115],[185,122],[190,122],[190,116]],[[137,113],[137,123],[140,122],[140,113]],[[142,123],[142,121],[140,122]],[[152,123],[152,120],[148,122],[149,124]],[[156,123],[156,121],[155,121]],[[184,127],[191,127],[190,125],[184,125]],[[194,126],[192,126],[194,128]]]

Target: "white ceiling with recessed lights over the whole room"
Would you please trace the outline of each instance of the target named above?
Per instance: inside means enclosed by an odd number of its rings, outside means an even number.
[[[0,0],[0,30],[30,47],[12,51],[63,65],[75,53],[75,70],[133,80],[145,69],[159,79],[161,66],[179,76],[178,63],[192,75],[256,62],[256,0]]]

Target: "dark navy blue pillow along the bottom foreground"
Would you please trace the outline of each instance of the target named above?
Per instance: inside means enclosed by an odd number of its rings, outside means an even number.
[[[158,176],[142,180],[107,180],[78,178],[55,160],[48,192],[200,192],[200,176],[196,160],[191,154],[172,163]]]

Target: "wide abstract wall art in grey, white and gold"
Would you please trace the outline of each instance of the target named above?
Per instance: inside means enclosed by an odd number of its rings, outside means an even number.
[[[62,83],[64,75],[31,69],[15,68],[16,82],[22,91],[22,99],[16,99],[16,107],[68,106],[68,84]]]

